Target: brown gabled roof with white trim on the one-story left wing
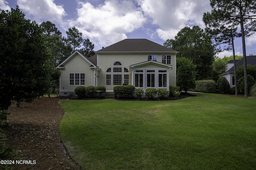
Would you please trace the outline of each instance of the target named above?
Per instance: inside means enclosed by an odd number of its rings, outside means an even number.
[[[68,61],[70,61],[74,56],[76,55],[80,55],[85,61],[87,61],[89,64],[91,64],[91,68],[99,68],[97,66],[97,55],[92,56],[92,58],[88,58],[85,55],[83,55],[82,53],[80,53],[79,51],[75,51],[72,55],[70,55],[66,60],[64,60],[62,63],[60,63],[57,68],[65,68],[65,64],[68,63]],[[96,56],[96,62],[95,62],[95,56]]]

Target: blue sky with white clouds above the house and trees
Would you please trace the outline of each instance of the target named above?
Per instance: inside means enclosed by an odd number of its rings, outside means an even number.
[[[205,25],[203,14],[211,11],[210,0],[0,0],[1,10],[19,6],[26,19],[51,21],[66,37],[76,27],[90,39],[94,51],[123,39],[143,38],[160,45],[174,39],[188,26]],[[235,39],[236,55],[242,55],[242,39]],[[256,34],[246,37],[246,55],[256,55]],[[232,55],[224,51],[216,56]]]

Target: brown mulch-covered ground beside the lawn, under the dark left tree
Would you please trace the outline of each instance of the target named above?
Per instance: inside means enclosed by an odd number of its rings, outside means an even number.
[[[42,97],[32,103],[9,107],[9,126],[4,129],[6,145],[18,150],[21,160],[32,164],[14,164],[14,170],[79,170],[66,153],[58,126],[64,110],[59,98]],[[33,160],[36,164],[33,164]]]

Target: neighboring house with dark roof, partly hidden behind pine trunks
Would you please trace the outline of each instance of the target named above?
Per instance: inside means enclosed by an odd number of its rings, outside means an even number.
[[[256,65],[256,56],[247,56],[246,63],[251,64],[252,66]],[[236,60],[236,67],[244,65],[244,59]],[[226,64],[226,71],[219,75],[219,77],[225,77],[229,84],[230,88],[235,86],[234,79],[234,61],[231,60]]]

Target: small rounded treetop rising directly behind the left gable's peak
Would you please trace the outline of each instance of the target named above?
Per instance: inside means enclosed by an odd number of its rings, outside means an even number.
[[[83,42],[82,33],[80,33],[76,27],[69,28],[66,33],[68,43],[73,46],[73,51],[76,51],[76,48],[80,48]]]

